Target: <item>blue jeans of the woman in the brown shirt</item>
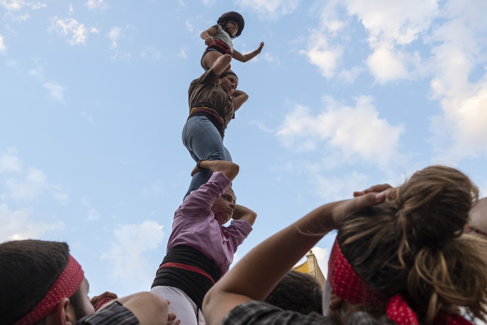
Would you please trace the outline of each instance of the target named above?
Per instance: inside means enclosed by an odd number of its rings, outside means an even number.
[[[222,137],[210,120],[205,116],[194,116],[186,121],[183,127],[183,144],[195,162],[199,160],[225,160],[232,161],[232,156],[223,145]],[[194,174],[185,199],[194,190],[208,182],[211,170],[202,169]]]

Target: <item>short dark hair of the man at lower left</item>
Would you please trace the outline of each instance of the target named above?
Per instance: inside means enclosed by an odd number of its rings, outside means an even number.
[[[1,323],[13,324],[31,311],[51,289],[68,261],[66,243],[23,240],[0,244]],[[79,289],[70,298],[76,319],[85,316],[82,298]]]

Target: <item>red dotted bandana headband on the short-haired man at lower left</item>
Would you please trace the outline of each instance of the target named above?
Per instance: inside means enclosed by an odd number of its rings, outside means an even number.
[[[81,265],[76,262],[73,256],[69,256],[69,261],[61,275],[57,278],[49,292],[27,315],[22,317],[14,325],[33,325],[56,310],[57,304],[62,298],[70,298],[79,288],[83,281],[84,272]]]

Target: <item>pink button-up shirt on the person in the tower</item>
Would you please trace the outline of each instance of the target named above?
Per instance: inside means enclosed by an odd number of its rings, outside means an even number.
[[[214,214],[211,206],[230,187],[230,180],[215,172],[208,183],[191,192],[174,213],[168,251],[176,245],[198,249],[215,261],[222,275],[233,262],[233,254],[252,231],[250,223],[232,220],[227,227],[220,224],[222,212]]]

